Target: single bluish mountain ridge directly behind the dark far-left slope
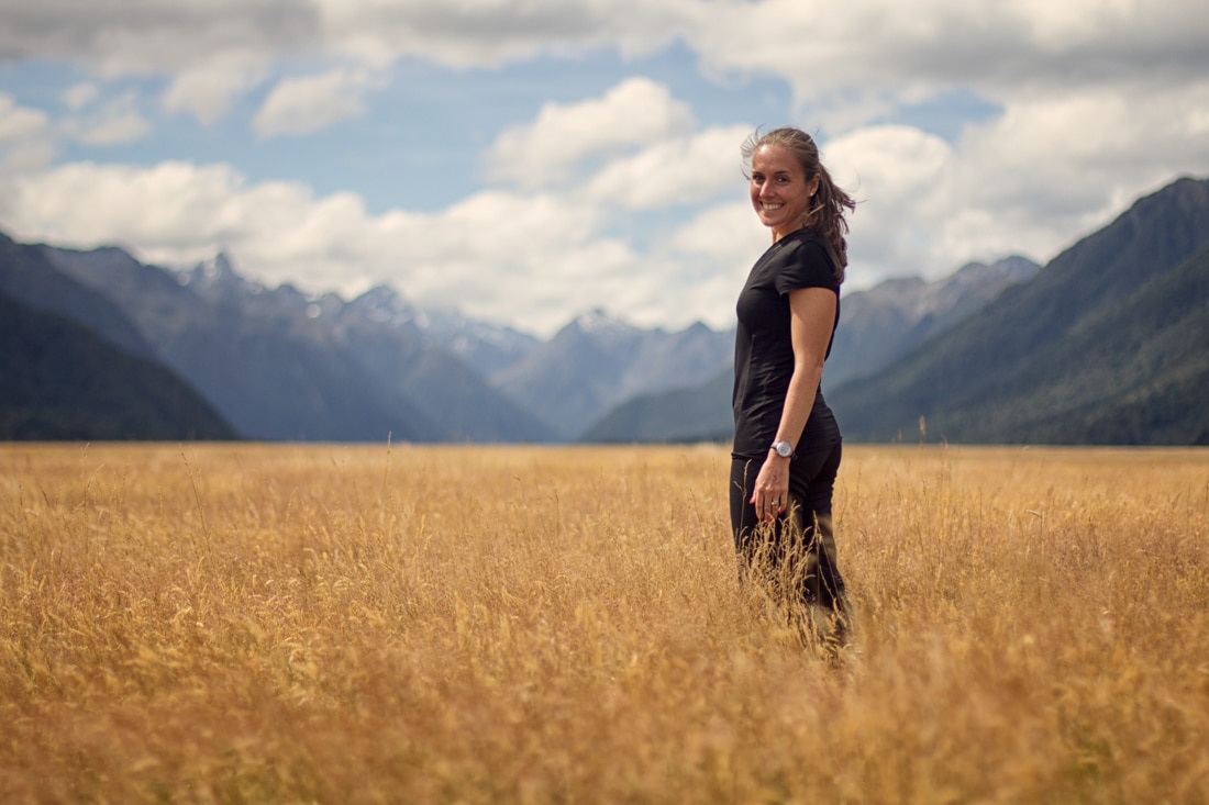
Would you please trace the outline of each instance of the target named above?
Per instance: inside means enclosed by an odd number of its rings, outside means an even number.
[[[266,291],[235,276],[225,260],[178,276],[115,248],[44,250],[56,267],[116,305],[157,357],[249,438],[445,436],[413,402],[369,381],[307,315],[293,288]]]

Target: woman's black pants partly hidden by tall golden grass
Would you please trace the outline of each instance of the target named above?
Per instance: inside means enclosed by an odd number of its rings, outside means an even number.
[[[760,458],[730,463],[730,522],[740,572],[757,572],[782,595],[800,603],[845,613],[844,579],[835,564],[832,492],[839,471],[840,440],[811,441],[789,462],[789,500],[785,514],[762,523],[750,500]]]

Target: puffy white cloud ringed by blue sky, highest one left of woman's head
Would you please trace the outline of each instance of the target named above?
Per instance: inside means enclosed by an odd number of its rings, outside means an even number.
[[[586,160],[686,134],[692,126],[688,106],[667,87],[627,79],[601,98],[548,103],[532,123],[503,132],[487,154],[487,173],[496,180],[540,187],[566,179]]]

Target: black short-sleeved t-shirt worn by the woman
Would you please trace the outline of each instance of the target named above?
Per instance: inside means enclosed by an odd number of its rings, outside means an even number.
[[[739,294],[739,328],[735,335],[734,454],[758,458],[768,453],[785,410],[793,376],[793,341],[789,335],[789,291],[827,288],[835,291],[839,323],[839,285],[823,241],[809,230],[785,236],[765,251]],[[831,340],[827,342],[831,354]],[[822,402],[822,390],[816,405]]]

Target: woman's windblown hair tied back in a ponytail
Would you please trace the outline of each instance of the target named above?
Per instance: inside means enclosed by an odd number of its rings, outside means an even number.
[[[818,190],[812,197],[812,204],[805,214],[806,228],[817,233],[832,262],[835,263],[835,284],[844,282],[844,270],[848,267],[848,219],[845,210],[855,210],[856,202],[832,181],[831,174],[818,158],[818,146],[812,137],[800,128],[783,126],[760,134],[759,131],[752,133],[742,145],[744,168],[746,175],[751,176],[752,157],[756,151],[764,145],[783,145],[789,154],[797,157],[806,181],[818,176]]]

